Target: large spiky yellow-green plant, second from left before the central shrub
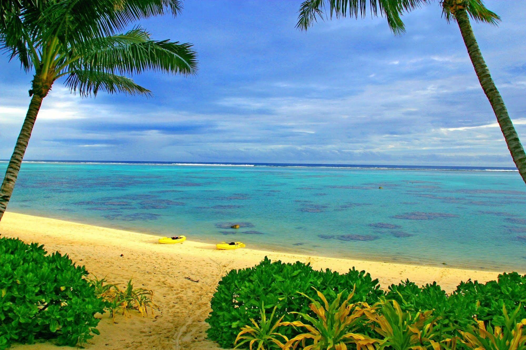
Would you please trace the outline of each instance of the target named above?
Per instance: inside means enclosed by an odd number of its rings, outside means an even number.
[[[296,349],[301,345],[304,350],[346,350],[347,345],[353,344],[358,350],[360,349],[375,349],[375,344],[378,339],[372,339],[367,335],[353,333],[359,326],[363,325],[365,321],[364,312],[369,308],[366,303],[350,304],[354,291],[349,294],[346,300],[341,302],[341,294],[338,294],[336,299],[329,304],[326,297],[316,290],[320,302],[307,297],[311,304],[310,310],[316,314],[316,318],[310,315],[294,312],[300,315],[310,324],[305,324],[301,321],[281,322],[284,326],[304,327],[307,333],[299,334],[290,339],[284,346],[285,350]],[[310,339],[306,345],[307,339]]]

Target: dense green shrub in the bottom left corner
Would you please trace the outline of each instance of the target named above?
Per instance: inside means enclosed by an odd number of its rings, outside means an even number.
[[[52,338],[75,346],[99,334],[94,315],[104,302],[84,279],[86,269],[43,247],[0,238],[0,348]]]

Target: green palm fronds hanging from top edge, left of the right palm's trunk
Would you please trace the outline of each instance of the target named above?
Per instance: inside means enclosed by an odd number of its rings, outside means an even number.
[[[385,16],[392,32],[401,34],[405,31],[401,15],[424,3],[426,0],[306,0],[300,6],[296,27],[307,30],[318,18],[323,19],[326,7],[329,7],[330,18],[363,18],[367,16],[369,6],[372,17]]]

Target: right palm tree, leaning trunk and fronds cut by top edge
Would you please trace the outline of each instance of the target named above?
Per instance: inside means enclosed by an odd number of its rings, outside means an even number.
[[[401,34],[405,28],[400,18],[403,12],[412,11],[431,0],[369,0],[371,15],[386,16],[391,30],[395,34]],[[488,66],[484,62],[480,52],[477,39],[473,34],[469,17],[477,22],[497,25],[500,17],[484,6],[482,0],[439,0],[442,6],[442,14],[448,22],[456,21],[464,44],[468,49],[469,58],[477,73],[482,90],[488,97],[497,121],[500,125],[504,140],[508,145],[511,157],[519,170],[522,180],[526,183],[526,153],[522,148],[519,135],[513,126],[504,105],[502,96],[491,78]],[[330,17],[364,17],[366,15],[366,0],[306,0],[299,9],[297,28],[307,30],[323,15],[325,7],[330,8]]]

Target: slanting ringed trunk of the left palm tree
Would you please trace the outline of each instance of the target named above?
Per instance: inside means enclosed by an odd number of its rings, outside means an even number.
[[[33,126],[35,125],[38,110],[42,105],[42,99],[42,96],[35,94],[33,95],[31,102],[29,102],[26,119],[24,120],[22,130],[20,130],[20,134],[16,140],[15,150],[13,151],[13,156],[11,156],[11,160],[9,160],[4,181],[2,182],[2,187],[0,188],[0,220],[2,220],[5,209],[7,208],[7,203],[9,203],[9,199],[11,199],[11,195],[13,194],[18,171],[20,171],[22,159],[24,158],[27,143],[31,137]]]

